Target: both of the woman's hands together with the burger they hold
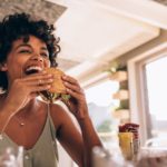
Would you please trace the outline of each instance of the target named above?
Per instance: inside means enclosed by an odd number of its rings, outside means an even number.
[[[47,102],[62,100],[77,119],[88,116],[85,94],[78,81],[58,68],[46,68],[43,71],[33,69],[23,78],[16,79],[4,108],[7,106],[14,115],[38,95]]]

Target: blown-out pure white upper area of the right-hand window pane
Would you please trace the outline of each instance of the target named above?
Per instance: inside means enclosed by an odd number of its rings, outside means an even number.
[[[167,120],[167,57],[146,66],[149,111],[157,120]]]

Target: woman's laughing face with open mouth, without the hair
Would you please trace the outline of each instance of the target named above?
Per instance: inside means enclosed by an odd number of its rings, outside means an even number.
[[[43,41],[35,36],[29,36],[28,42],[18,39],[12,43],[6,62],[9,86],[30,70],[41,71],[49,66],[49,51]]]

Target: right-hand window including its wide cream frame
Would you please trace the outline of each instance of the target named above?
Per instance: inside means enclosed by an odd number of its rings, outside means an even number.
[[[131,121],[140,125],[141,145],[167,130],[167,45],[161,43],[128,61]]]

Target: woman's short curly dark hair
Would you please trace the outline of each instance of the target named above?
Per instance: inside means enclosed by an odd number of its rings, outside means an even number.
[[[6,62],[13,41],[20,38],[28,41],[31,35],[47,45],[51,66],[57,67],[56,58],[60,47],[59,38],[52,35],[53,30],[53,24],[48,24],[45,20],[32,19],[24,12],[7,16],[0,22],[0,63]],[[3,71],[0,71],[0,87],[3,90],[8,88],[7,73]]]

